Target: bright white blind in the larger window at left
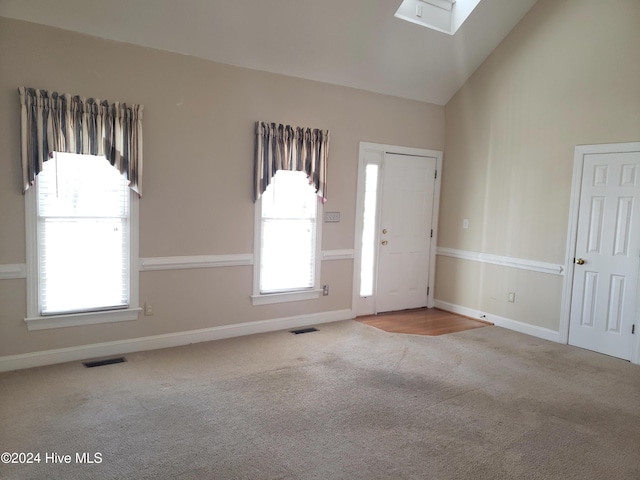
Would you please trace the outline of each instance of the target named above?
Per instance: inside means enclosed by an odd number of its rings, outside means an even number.
[[[37,177],[42,315],[129,305],[130,192],[102,157],[56,153]]]

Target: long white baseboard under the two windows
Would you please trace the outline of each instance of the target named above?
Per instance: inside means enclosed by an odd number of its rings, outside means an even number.
[[[335,310],[331,312],[313,313],[295,317],[260,320],[255,322],[223,325],[221,327],[203,328],[187,332],[153,335],[150,337],[130,338],[114,342],[79,345],[77,347],[45,350],[42,352],[24,353],[0,357],[0,372],[20,370],[23,368],[42,367],[56,363],[100,358],[125,353],[157,350],[160,348],[179,347],[191,343],[209,342],[224,338],[240,337],[256,333],[273,332],[309,325],[337,322],[354,318],[351,310]]]

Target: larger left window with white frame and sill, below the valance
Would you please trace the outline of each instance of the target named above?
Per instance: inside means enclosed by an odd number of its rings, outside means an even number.
[[[55,153],[27,192],[29,329],[137,318],[137,198],[104,157]]]

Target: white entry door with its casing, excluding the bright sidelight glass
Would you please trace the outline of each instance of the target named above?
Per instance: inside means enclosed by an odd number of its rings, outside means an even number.
[[[380,167],[374,239],[375,287],[371,296],[361,297],[365,170],[372,164]],[[356,315],[434,306],[430,285],[435,276],[440,198],[440,178],[434,177],[441,168],[442,152],[360,144],[352,301]],[[385,198],[390,200],[387,202]],[[382,233],[385,229],[387,233]],[[383,241],[386,245],[382,245]]]

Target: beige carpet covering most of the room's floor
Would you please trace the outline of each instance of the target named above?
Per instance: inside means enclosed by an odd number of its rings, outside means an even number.
[[[318,328],[1,374],[0,452],[41,462],[0,478],[640,478],[638,366],[498,327]]]

